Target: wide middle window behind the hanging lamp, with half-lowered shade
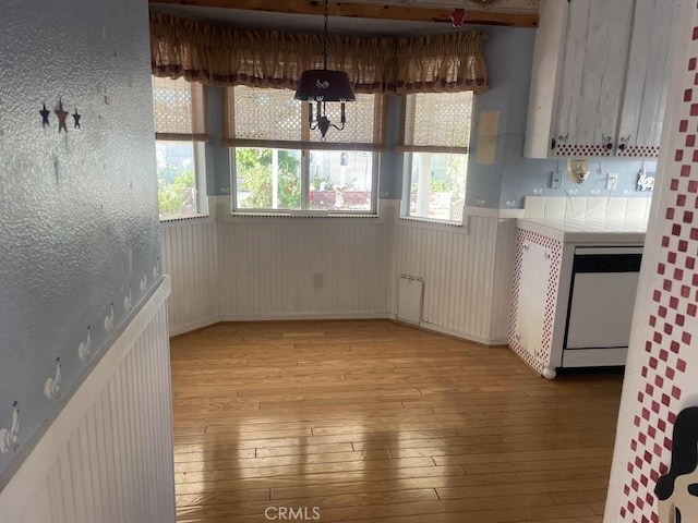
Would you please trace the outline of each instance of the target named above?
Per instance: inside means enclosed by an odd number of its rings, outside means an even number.
[[[381,96],[357,95],[344,131],[330,129],[324,142],[308,126],[306,106],[289,89],[226,90],[233,211],[375,212]],[[327,109],[339,121],[339,105]]]

